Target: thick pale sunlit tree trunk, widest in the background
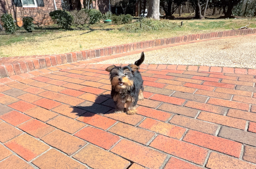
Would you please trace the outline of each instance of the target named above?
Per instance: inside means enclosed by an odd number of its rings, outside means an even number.
[[[160,0],[148,0],[147,17],[159,20]]]

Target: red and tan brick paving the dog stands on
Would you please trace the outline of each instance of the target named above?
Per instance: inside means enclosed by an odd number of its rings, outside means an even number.
[[[0,79],[0,168],[256,169],[255,70],[141,65],[129,116],[89,61]]]

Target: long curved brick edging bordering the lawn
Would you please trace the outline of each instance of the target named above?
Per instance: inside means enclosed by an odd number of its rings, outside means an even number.
[[[241,36],[241,35],[252,35],[252,34],[256,34],[256,29],[229,30],[229,31],[207,33],[207,34],[202,33],[202,34],[194,34],[194,35],[187,35],[187,36],[180,36],[180,37],[155,39],[155,40],[148,40],[143,42],[135,42],[130,44],[121,44],[116,46],[104,47],[99,49],[74,51],[74,52],[64,53],[64,54],[4,57],[4,58],[0,58],[0,78],[27,73],[30,71],[44,69],[47,67],[78,62],[78,61],[79,63],[82,63],[82,64],[88,64],[92,62],[90,61],[91,59],[93,59],[94,61],[113,59],[116,57],[135,54],[141,51],[141,49],[154,48],[157,46],[165,46],[170,44],[182,44],[182,43],[184,44],[185,42],[191,42],[191,41],[202,42],[200,40],[210,39],[210,38],[216,39],[216,38],[224,38],[224,37],[234,37],[234,36]],[[170,47],[170,46],[167,46],[167,47]],[[147,51],[147,50],[144,50],[144,51]],[[129,54],[127,52],[129,52]],[[73,64],[79,65],[78,63],[73,63]]]

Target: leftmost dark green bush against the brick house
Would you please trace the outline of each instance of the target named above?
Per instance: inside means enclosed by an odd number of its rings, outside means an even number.
[[[15,23],[14,23],[12,15],[10,15],[10,14],[1,15],[1,21],[4,24],[3,27],[5,28],[6,33],[8,33],[8,34],[15,33]]]

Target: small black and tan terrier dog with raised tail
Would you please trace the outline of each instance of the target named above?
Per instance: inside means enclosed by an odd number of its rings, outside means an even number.
[[[136,114],[138,100],[143,100],[143,80],[139,66],[145,59],[144,52],[140,59],[134,64],[128,66],[109,66],[106,71],[110,72],[110,81],[112,85],[111,96],[116,104],[115,113],[126,112],[126,114]],[[126,103],[126,111],[124,105]]]

